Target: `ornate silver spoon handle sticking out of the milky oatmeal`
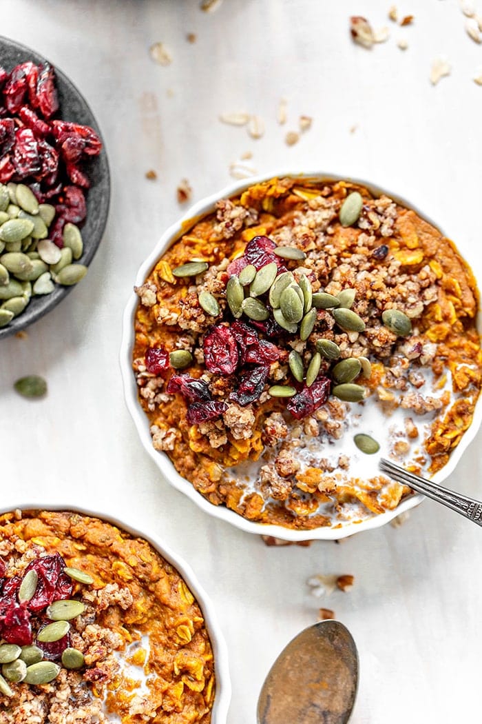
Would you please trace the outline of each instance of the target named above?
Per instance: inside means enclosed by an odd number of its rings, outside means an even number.
[[[478,526],[482,526],[482,502],[480,500],[474,500],[473,498],[462,495],[453,490],[443,488],[442,485],[437,485],[431,480],[421,478],[415,473],[409,473],[404,468],[400,468],[399,465],[395,465],[391,460],[380,460],[380,470],[384,473],[388,473],[391,478],[397,480],[399,483],[409,485],[419,493],[426,495],[426,497],[441,502],[442,505],[446,505],[447,508],[455,510],[460,515],[468,518],[470,521],[477,523]]]

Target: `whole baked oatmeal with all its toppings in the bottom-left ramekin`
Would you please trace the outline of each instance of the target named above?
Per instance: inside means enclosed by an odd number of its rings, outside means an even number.
[[[143,539],[79,513],[0,515],[0,723],[207,724],[202,612]]]

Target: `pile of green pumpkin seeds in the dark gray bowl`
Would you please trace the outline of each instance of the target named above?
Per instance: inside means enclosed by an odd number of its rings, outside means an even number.
[[[75,224],[64,226],[64,248],[48,239],[55,214],[55,206],[38,203],[25,184],[0,184],[0,327],[24,311],[33,295],[50,294],[55,284],[77,284],[87,274],[87,266],[72,263],[83,252]]]

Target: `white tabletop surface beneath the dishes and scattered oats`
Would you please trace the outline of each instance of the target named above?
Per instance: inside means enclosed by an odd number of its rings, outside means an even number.
[[[193,200],[202,198],[230,180],[228,164],[245,151],[259,172],[319,167],[398,191],[437,219],[482,278],[482,88],[471,80],[482,46],[466,35],[457,0],[400,4],[400,14],[416,16],[408,28],[387,20],[389,6],[225,0],[205,14],[198,0],[1,2],[1,33],[48,56],[90,101],[113,180],[106,235],[86,279],[27,339],[1,342],[1,505],[35,498],[109,508],[189,560],[228,641],[228,724],[255,720],[264,675],[320,605],[335,610],[359,647],[353,724],[480,717],[480,529],[424,502],[400,529],[339,545],[264,547],[159,479],[119,374],[124,303],[139,263],[180,213],[178,182],[188,178]],[[360,13],[389,25],[390,40],[372,51],[354,46],[348,16]],[[196,43],[186,41],[189,32]],[[401,37],[406,51],[397,48]],[[150,59],[155,41],[171,50],[170,66]],[[429,67],[439,54],[453,70],[433,87]],[[275,117],[281,96],[283,127]],[[263,117],[264,137],[218,122],[234,110]],[[300,114],[313,126],[288,148],[285,132]],[[156,181],[145,179],[151,168]],[[48,379],[48,396],[36,403],[12,390],[30,373]],[[481,442],[479,434],[448,481],[478,498]],[[317,600],[306,586],[314,573],[351,573],[355,585]]]

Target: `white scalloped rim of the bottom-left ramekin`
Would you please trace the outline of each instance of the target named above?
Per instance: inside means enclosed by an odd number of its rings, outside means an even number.
[[[212,645],[212,652],[215,665],[215,699],[212,707],[212,724],[226,724],[228,717],[228,708],[231,702],[231,677],[229,673],[228,663],[228,647],[218,623],[218,616],[215,613],[214,605],[205,592],[205,589],[199,584],[197,576],[192,570],[189,563],[173,552],[170,546],[166,545],[159,536],[153,532],[147,532],[139,527],[138,523],[132,525],[126,523],[124,519],[119,518],[117,515],[112,515],[108,511],[104,510],[90,510],[79,505],[58,505],[58,504],[46,504],[42,500],[29,500],[25,505],[9,505],[7,508],[4,505],[0,506],[0,515],[9,513],[13,510],[65,510],[66,512],[80,513],[82,515],[88,515],[91,518],[100,518],[107,523],[112,523],[114,526],[126,531],[132,536],[142,538],[152,547],[157,550],[165,560],[170,563],[173,568],[181,575],[181,578],[186,582],[189,590],[194,595],[197,603],[199,604],[202,614],[205,618],[207,633],[209,633],[210,641]]]

